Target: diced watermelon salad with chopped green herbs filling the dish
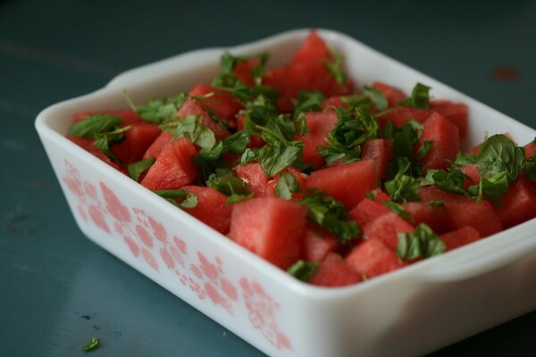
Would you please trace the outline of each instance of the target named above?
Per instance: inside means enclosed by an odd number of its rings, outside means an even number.
[[[465,104],[356,86],[312,30],[292,60],[222,54],[211,83],[81,112],[67,137],[316,286],[374,278],[536,217],[536,139],[461,151]],[[180,83],[178,84],[180,85]],[[357,89],[359,88],[359,89]],[[223,238],[223,237],[222,237]]]

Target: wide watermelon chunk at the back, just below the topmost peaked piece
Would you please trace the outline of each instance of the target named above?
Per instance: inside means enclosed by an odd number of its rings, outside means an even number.
[[[281,112],[292,111],[292,101],[300,90],[318,90],[325,96],[348,95],[354,85],[348,80],[337,83],[323,60],[293,62],[286,67],[265,71],[263,83],[279,93],[278,107]]]

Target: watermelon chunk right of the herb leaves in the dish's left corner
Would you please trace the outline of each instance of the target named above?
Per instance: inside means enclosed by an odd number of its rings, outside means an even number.
[[[155,124],[133,125],[123,133],[125,139],[121,143],[113,145],[113,152],[123,162],[138,162],[161,132],[162,130]]]

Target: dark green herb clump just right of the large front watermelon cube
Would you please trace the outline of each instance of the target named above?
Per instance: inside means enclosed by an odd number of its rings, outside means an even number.
[[[344,204],[331,195],[321,190],[307,189],[299,202],[308,207],[308,220],[326,228],[340,243],[347,244],[361,234],[356,222],[348,220],[348,210]]]

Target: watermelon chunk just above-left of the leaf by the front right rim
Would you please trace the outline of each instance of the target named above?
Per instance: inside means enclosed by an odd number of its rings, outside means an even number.
[[[363,228],[363,235],[368,240],[380,239],[391,250],[398,246],[398,233],[411,233],[414,231],[407,220],[395,212],[389,212],[373,220]]]

